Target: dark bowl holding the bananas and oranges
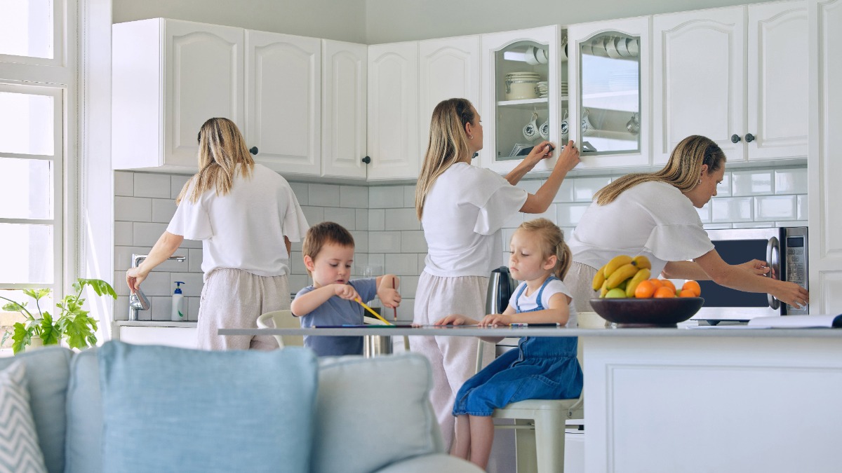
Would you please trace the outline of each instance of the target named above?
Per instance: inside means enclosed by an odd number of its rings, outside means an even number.
[[[590,306],[602,318],[625,327],[675,327],[704,304],[701,297],[590,300]]]

